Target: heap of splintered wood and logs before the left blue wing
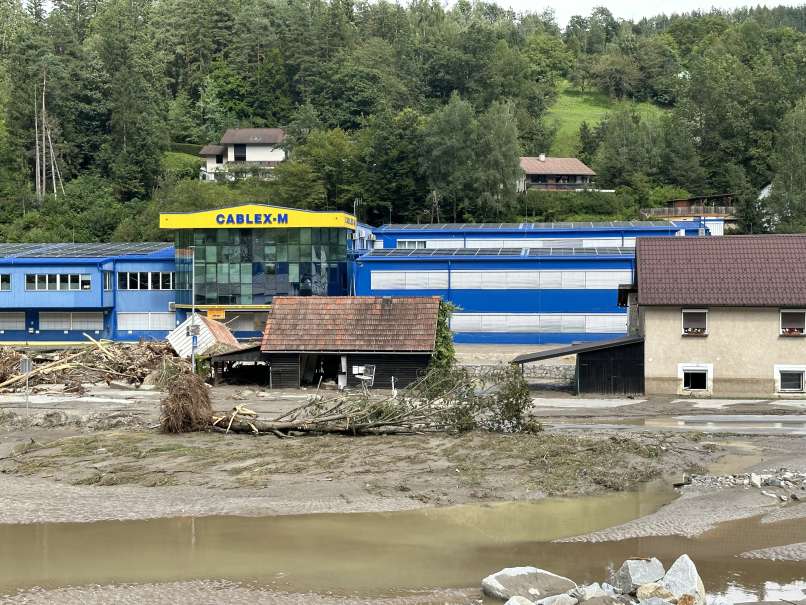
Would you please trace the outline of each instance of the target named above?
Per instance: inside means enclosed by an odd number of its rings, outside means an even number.
[[[147,381],[162,386],[173,376],[190,371],[189,364],[177,357],[167,343],[90,341],[75,349],[32,354],[34,367],[28,374],[29,385],[64,384],[67,390],[81,390],[82,384],[117,382],[139,386]],[[25,388],[21,358],[18,351],[0,347],[0,390]]]

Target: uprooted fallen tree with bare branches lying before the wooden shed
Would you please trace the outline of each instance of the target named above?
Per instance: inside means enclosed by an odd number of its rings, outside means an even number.
[[[236,406],[213,415],[212,428],[222,432],[273,434],[336,433],[345,435],[539,430],[526,417],[531,404],[517,368],[470,375],[464,370],[432,372],[399,394],[362,392],[316,397],[273,418]]]

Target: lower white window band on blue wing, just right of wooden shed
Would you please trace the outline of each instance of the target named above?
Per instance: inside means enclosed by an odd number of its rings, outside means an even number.
[[[627,331],[623,313],[454,313],[454,332],[560,332],[620,334]]]

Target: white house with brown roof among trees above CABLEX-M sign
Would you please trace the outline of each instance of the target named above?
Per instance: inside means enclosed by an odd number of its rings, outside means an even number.
[[[199,155],[205,159],[203,181],[234,180],[238,175],[268,174],[286,159],[282,128],[230,128],[218,144],[205,145]]]

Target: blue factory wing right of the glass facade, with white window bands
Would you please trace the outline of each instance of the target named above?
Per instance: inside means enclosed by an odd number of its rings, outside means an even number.
[[[385,225],[357,260],[356,293],[441,296],[456,342],[615,338],[635,239],[707,233],[698,221]]]

